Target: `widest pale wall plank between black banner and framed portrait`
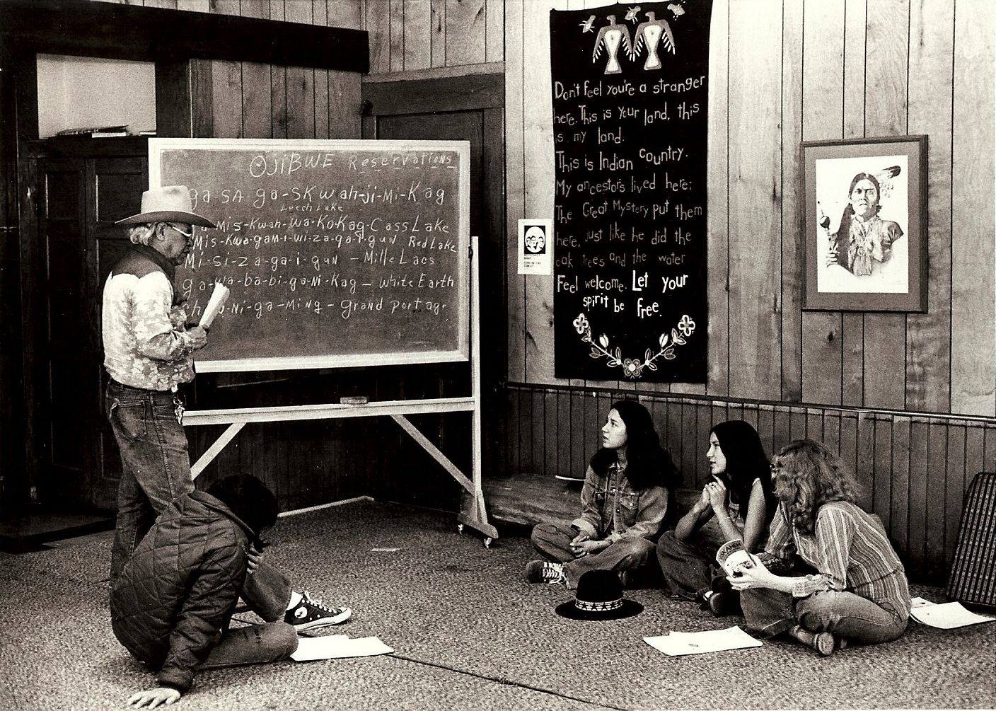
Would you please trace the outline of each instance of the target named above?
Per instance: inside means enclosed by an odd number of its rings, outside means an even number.
[[[730,390],[781,396],[780,285],[749,279],[780,271],[782,200],[781,3],[730,4],[729,143]]]

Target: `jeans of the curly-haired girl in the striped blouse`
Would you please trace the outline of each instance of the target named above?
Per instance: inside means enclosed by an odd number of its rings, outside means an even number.
[[[896,639],[908,617],[886,600],[875,602],[847,591],[814,592],[794,598],[787,592],[754,588],[740,593],[747,628],[773,636],[799,623],[813,632],[833,632],[875,644]]]

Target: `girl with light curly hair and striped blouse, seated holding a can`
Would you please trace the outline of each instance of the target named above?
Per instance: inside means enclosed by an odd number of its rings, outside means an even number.
[[[906,574],[877,517],[855,504],[840,458],[811,439],[775,457],[779,507],[765,552],[728,578],[750,629],[788,632],[829,656],[848,640],[897,638],[909,619]],[[781,575],[801,561],[809,575]]]

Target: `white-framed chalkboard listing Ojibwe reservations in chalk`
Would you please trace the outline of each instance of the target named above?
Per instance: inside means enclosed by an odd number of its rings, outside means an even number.
[[[176,287],[231,290],[200,371],[466,360],[466,141],[153,138],[149,185],[186,185]]]

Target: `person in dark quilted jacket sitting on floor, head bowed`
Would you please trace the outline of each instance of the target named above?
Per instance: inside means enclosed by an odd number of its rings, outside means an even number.
[[[285,659],[299,630],[349,618],[349,607],[293,592],[260,565],[260,534],[276,520],[276,499],[252,476],[181,496],[156,519],[111,592],[115,636],[158,674],[158,688],[133,694],[129,705],[172,703],[199,669]],[[240,595],[266,623],[228,628]]]

